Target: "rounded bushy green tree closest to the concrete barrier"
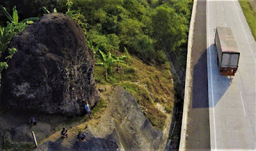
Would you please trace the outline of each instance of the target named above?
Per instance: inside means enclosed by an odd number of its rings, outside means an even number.
[[[177,15],[173,8],[163,4],[154,10],[152,37],[157,40],[156,48],[169,51],[186,42],[188,27],[186,19]]]

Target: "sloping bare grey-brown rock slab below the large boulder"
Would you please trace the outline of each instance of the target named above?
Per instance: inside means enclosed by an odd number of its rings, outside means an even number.
[[[108,101],[99,124],[83,131],[86,142],[70,133],[64,140],[49,138],[36,150],[157,150],[163,133],[150,124],[132,94],[116,87]]]

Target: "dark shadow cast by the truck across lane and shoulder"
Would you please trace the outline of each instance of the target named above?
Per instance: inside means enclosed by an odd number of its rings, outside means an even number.
[[[211,61],[212,61],[212,72],[207,71],[207,51],[211,47]],[[193,97],[192,97],[192,108],[209,108],[215,106],[220,101],[223,94],[230,86],[232,78],[228,76],[222,76],[217,65],[217,54],[214,44],[212,44],[207,50],[200,54],[198,61],[193,68]],[[212,74],[212,85],[214,90],[214,101],[212,103],[212,97],[209,98],[208,90],[208,75]],[[209,75],[211,77],[211,75]],[[209,83],[211,90],[211,81]],[[218,87],[216,87],[218,86]],[[216,92],[218,95],[216,95]],[[209,103],[209,101],[211,101]]]

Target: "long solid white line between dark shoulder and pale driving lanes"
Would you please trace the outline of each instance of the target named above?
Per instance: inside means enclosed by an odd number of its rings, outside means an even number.
[[[208,35],[209,35],[209,44],[210,44],[210,21],[209,21],[209,1],[207,1],[207,10],[208,10]],[[209,52],[210,52],[210,71],[211,71],[211,89],[212,89],[212,113],[213,113],[213,128],[214,128],[214,147],[215,150],[217,150],[217,144],[216,144],[216,126],[215,126],[215,111],[214,111],[214,96],[213,96],[213,84],[212,84],[212,59],[211,59],[211,45],[209,47]]]

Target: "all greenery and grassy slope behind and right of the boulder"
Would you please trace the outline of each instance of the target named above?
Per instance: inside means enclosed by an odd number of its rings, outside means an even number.
[[[13,3],[0,4],[10,10]],[[84,30],[88,46],[101,65],[95,66],[96,82],[125,87],[138,99],[150,122],[163,129],[166,115],[156,103],[172,113],[175,101],[166,54],[177,54],[186,65],[190,0],[58,0],[52,3],[42,0],[20,2],[16,6],[24,18],[28,14],[22,8],[31,10],[29,15],[36,17],[50,13],[48,10],[70,15]],[[0,18],[3,18],[1,13]],[[2,26],[6,25],[3,20]],[[15,32],[2,34],[8,38],[1,39],[0,44],[5,45],[1,52],[6,50],[13,34],[26,27],[26,24],[20,25],[17,30],[17,25],[7,24]],[[7,27],[1,28],[1,33]]]

